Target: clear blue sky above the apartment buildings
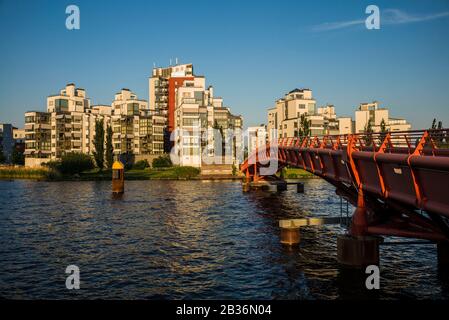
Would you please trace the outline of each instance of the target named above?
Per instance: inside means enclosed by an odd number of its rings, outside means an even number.
[[[65,28],[76,4],[81,29]],[[381,10],[367,30],[365,8]],[[153,62],[193,63],[245,126],[295,87],[339,115],[379,100],[414,128],[449,126],[449,1],[0,0],[0,122],[23,125],[66,83],[148,99]]]

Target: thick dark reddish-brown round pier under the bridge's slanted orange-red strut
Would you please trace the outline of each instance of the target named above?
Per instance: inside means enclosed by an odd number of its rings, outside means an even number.
[[[366,268],[379,265],[378,237],[353,237],[343,235],[337,238],[337,260],[343,267]]]

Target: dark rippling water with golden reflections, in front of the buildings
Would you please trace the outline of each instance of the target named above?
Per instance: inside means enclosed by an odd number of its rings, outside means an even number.
[[[433,245],[381,247],[381,290],[336,262],[340,226],[279,242],[278,221],[340,215],[335,189],[277,193],[239,182],[0,181],[0,297],[20,299],[447,299]],[[350,208],[350,210],[352,210]],[[67,290],[75,264],[81,289]]]

